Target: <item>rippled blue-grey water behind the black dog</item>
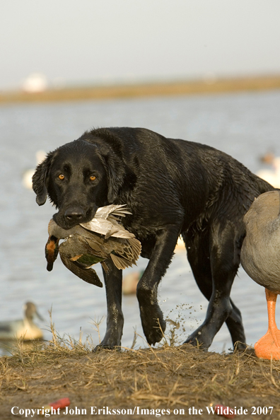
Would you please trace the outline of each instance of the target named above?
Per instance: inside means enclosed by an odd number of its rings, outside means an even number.
[[[22,185],[25,170],[35,166],[36,151],[53,150],[92,127],[146,127],[214,146],[256,172],[262,168],[260,155],[273,151],[280,156],[279,109],[280,91],[1,106],[0,320],[21,317],[23,303],[33,301],[45,317],[45,322],[37,324],[45,329],[46,339],[51,337],[48,311],[52,308],[59,334],[78,339],[81,328],[84,339],[91,334],[98,344],[93,320],[106,315],[104,288],[76,278],[59,260],[52,272],[46,270],[47,223],[55,211],[50,204],[37,206],[33,191]],[[144,269],[146,263],[140,259],[138,269]],[[102,278],[100,267],[97,272]],[[177,343],[182,343],[204,320],[207,308],[184,251],[176,252],[159,296],[165,315],[180,319]],[[247,343],[254,344],[267,330],[264,288],[240,268],[232,296],[243,313]],[[124,296],[123,310],[122,344],[131,346],[134,329],[143,336],[136,296]],[[101,338],[104,332],[105,321],[100,326]],[[146,346],[141,337],[137,345]],[[223,327],[211,350],[229,348],[231,339]]]

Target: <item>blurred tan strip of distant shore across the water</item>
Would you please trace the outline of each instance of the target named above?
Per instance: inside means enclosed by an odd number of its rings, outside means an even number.
[[[122,84],[114,86],[76,86],[47,89],[43,92],[0,92],[0,105],[9,103],[59,102],[73,100],[104,100],[169,95],[195,95],[238,91],[264,91],[280,88],[279,76],[221,78],[197,81]]]

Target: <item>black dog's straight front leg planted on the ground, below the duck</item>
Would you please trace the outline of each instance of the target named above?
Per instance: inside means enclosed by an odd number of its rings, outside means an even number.
[[[122,315],[122,270],[117,269],[111,259],[106,265],[109,272],[103,270],[107,298],[107,329],[102,342],[96,349],[115,349],[121,345],[124,315]]]

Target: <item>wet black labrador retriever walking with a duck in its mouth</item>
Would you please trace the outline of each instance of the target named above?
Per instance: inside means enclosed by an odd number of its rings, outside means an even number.
[[[186,340],[208,349],[226,322],[233,345],[245,347],[240,310],[230,298],[245,236],[243,216],[255,197],[274,189],[226,153],[148,129],[93,129],[48,153],[33,176],[37,204],[47,195],[68,229],[90,221],[99,206],[127,204],[124,227],[149,259],[137,287],[144,334],[156,344],[165,330],[157,290],[182,235],[199,289],[209,300],[206,319]],[[120,346],[122,271],[109,260],[104,274],[107,331],[100,346]],[[161,328],[159,328],[159,325]]]

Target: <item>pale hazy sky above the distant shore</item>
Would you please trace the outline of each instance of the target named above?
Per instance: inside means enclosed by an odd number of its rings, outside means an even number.
[[[280,74],[279,0],[0,0],[0,90]]]

